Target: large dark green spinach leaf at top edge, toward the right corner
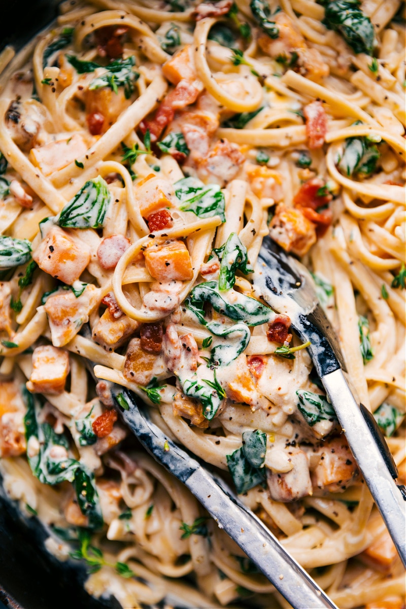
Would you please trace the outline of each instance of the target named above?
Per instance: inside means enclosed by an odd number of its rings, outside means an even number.
[[[355,53],[372,55],[374,26],[360,9],[359,0],[321,0],[326,9],[323,23],[340,33]]]

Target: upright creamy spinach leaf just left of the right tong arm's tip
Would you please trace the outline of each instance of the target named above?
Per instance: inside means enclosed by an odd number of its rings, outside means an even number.
[[[248,261],[247,248],[239,239],[237,233],[231,233],[222,247],[215,248],[220,264],[219,290],[223,292],[231,289],[236,283],[236,270],[244,275],[253,273],[254,269]]]

